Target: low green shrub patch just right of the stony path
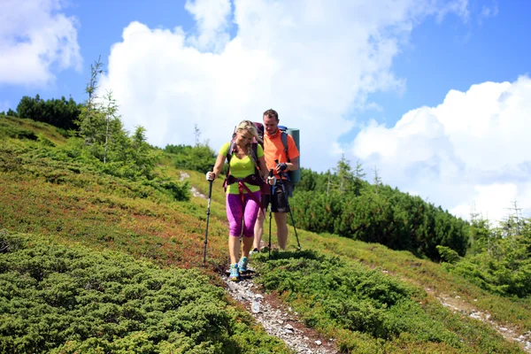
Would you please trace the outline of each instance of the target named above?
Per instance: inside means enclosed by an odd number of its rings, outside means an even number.
[[[456,335],[412,301],[411,288],[378,269],[347,264],[314,251],[273,255],[272,260],[260,264],[258,281],[291,301],[304,299],[304,319],[309,326],[332,321],[336,327],[373,338],[389,340],[408,333],[419,341],[459,347]],[[258,257],[265,260],[265,256]]]

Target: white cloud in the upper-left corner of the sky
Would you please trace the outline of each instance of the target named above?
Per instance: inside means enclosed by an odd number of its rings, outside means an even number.
[[[43,85],[55,70],[81,70],[76,22],[62,7],[61,0],[0,2],[0,84]]]

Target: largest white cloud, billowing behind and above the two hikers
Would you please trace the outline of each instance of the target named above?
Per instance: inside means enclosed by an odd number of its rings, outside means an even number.
[[[404,88],[391,65],[412,28],[428,15],[462,15],[460,4],[466,1],[189,2],[192,34],[127,26],[101,89],[113,90],[126,127],[146,127],[158,146],[193,143],[197,123],[218,149],[240,120],[261,120],[274,108],[282,124],[301,129],[302,165],[319,170],[335,165],[327,146],[353,127],[353,108],[370,104],[372,92]],[[228,19],[237,32],[225,41]]]

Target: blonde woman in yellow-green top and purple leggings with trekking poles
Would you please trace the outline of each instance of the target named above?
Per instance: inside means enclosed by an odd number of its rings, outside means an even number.
[[[260,186],[265,184],[264,180],[269,185],[276,182],[274,176],[267,176],[264,150],[258,142],[261,140],[257,128],[250,120],[243,120],[236,127],[235,138],[221,146],[213,172],[206,173],[207,181],[215,180],[227,159],[228,172],[224,186],[227,188],[229,277],[232,281],[238,281],[240,273],[247,272],[254,226],[260,211]],[[240,235],[243,235],[242,258],[238,262]]]

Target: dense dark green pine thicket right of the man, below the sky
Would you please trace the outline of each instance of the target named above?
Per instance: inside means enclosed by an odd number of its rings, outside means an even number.
[[[429,204],[381,183],[373,170],[373,183],[358,164],[352,168],[342,157],[334,172],[301,169],[291,205],[296,226],[317,233],[341,235],[364,242],[379,242],[393,250],[410,250],[417,256],[440,260],[442,245],[464,256],[468,223],[440,206]]]

